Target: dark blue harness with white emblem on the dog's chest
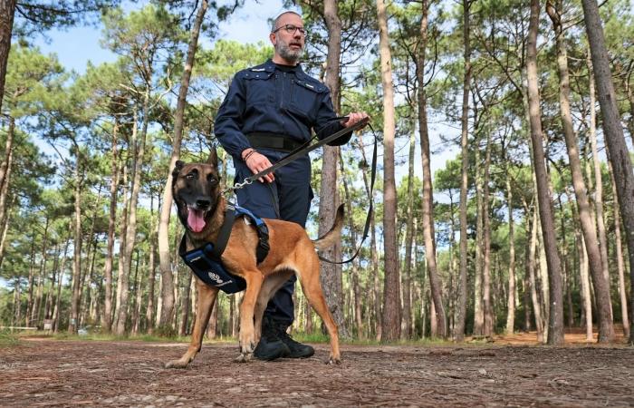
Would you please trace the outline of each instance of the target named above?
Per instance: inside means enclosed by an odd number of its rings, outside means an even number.
[[[269,253],[269,229],[263,219],[255,217],[248,209],[243,209],[233,204],[227,204],[225,221],[220,228],[216,244],[207,242],[203,247],[187,251],[185,235],[180,240],[178,255],[183,259],[196,276],[210,287],[217,287],[225,293],[232,294],[245,290],[246,282],[242,277],[237,277],[226,270],[220,257],[225,252],[226,244],[231,236],[231,229],[236,218],[245,217],[255,225],[258,237],[258,245],[255,249],[257,263],[264,261]]]

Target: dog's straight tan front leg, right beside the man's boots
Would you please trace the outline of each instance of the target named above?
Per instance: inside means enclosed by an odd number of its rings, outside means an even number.
[[[264,275],[255,269],[245,273],[246,290],[240,305],[240,355],[235,359],[237,363],[251,360],[255,350],[254,308],[260,293]]]

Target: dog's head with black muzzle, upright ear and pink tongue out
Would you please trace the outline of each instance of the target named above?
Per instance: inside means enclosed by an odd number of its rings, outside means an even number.
[[[216,149],[206,163],[184,163],[178,160],[172,170],[172,194],[178,219],[192,232],[202,232],[220,199],[220,174]]]

